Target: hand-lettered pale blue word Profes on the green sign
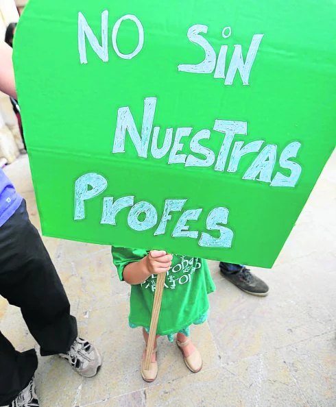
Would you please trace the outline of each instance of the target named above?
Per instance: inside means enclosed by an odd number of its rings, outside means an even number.
[[[75,221],[85,219],[85,201],[93,199],[106,190],[108,182],[105,177],[97,173],[87,173],[79,177],[75,182]],[[101,215],[101,224],[117,225],[117,214],[128,208],[128,226],[136,232],[143,232],[156,228],[154,236],[163,235],[166,232],[167,223],[171,221],[171,212],[181,212],[181,215],[173,228],[173,238],[194,238],[202,247],[231,247],[233,232],[224,226],[228,223],[228,208],[214,208],[206,218],[206,230],[219,232],[215,238],[206,232],[190,230],[189,221],[197,221],[202,213],[202,208],[183,210],[187,199],[165,199],[163,213],[158,217],[156,208],[147,201],[135,202],[134,196],[104,197]],[[199,236],[200,234],[200,236]]]

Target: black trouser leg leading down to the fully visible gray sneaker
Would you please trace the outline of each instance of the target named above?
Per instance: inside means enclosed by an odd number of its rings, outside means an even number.
[[[24,201],[0,227],[0,295],[21,308],[42,356],[69,350],[77,336],[77,323],[47,249],[29,221]],[[6,374],[2,369],[0,362],[0,374]],[[12,371],[20,369],[22,365],[12,367]],[[0,394],[11,393],[12,389],[0,387]]]

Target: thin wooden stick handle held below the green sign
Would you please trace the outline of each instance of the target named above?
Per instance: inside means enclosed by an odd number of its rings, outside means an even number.
[[[160,314],[162,296],[163,296],[163,288],[165,287],[165,278],[166,273],[158,274],[156,279],[156,289],[154,295],[154,303],[153,303],[153,310],[152,310],[152,319],[150,321],[150,328],[149,328],[149,337],[147,341],[147,352],[145,358],[145,370],[149,370],[149,365],[152,358],[152,353],[154,349],[155,337],[156,337],[156,328],[158,328],[158,317]]]

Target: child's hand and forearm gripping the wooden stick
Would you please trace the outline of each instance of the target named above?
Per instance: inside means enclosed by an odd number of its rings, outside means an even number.
[[[141,284],[152,274],[167,273],[171,267],[173,256],[163,250],[152,250],[139,260],[127,264],[123,269],[123,280],[128,284]]]

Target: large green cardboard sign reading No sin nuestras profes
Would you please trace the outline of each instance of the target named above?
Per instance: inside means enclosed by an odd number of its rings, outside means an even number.
[[[333,1],[30,0],[43,233],[272,267],[335,145]]]

